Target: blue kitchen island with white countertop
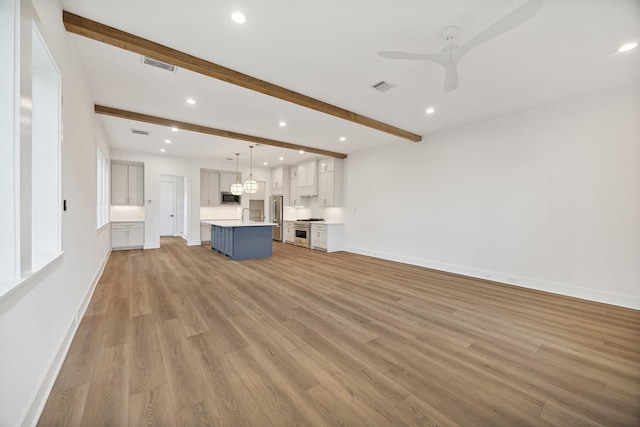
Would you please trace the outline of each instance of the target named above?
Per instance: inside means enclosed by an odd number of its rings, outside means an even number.
[[[234,261],[272,255],[271,222],[200,221],[211,225],[211,249]]]

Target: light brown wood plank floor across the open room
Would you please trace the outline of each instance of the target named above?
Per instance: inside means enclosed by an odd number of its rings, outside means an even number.
[[[113,252],[40,426],[640,425],[640,312],[274,244]]]

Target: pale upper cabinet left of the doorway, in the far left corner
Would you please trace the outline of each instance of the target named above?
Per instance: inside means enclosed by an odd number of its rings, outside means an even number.
[[[144,206],[144,166],[111,162],[111,204]]]

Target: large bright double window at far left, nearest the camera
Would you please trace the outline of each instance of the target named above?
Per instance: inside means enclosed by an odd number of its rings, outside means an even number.
[[[62,254],[61,74],[34,11],[23,16],[32,20],[31,31],[16,32],[12,16],[20,3],[6,3],[0,9],[0,194],[7,204],[0,210],[0,298]],[[21,55],[31,56],[31,67],[16,67]]]

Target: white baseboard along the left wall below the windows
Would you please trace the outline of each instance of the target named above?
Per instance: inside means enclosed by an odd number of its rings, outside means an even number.
[[[35,426],[40,419],[40,415],[42,415],[42,410],[44,409],[44,405],[47,403],[47,399],[49,398],[49,394],[51,394],[51,390],[53,389],[53,385],[58,378],[58,374],[60,373],[60,369],[62,368],[62,363],[64,362],[65,357],[67,357],[67,353],[69,352],[69,348],[71,347],[71,342],[73,341],[73,337],[78,330],[78,325],[80,325],[80,321],[84,316],[84,313],[87,311],[89,307],[89,302],[91,302],[91,297],[93,297],[93,292],[96,290],[96,286],[98,285],[98,281],[100,281],[100,277],[102,277],[102,273],[104,272],[104,268],[107,265],[107,260],[109,259],[109,255],[111,254],[111,248],[105,254],[104,259],[102,260],[102,264],[100,268],[96,272],[91,286],[87,290],[85,297],[80,303],[80,307],[76,311],[76,315],[71,321],[69,325],[69,329],[67,330],[67,334],[64,339],[60,343],[60,347],[58,348],[58,352],[56,353],[53,361],[50,364],[49,370],[45,374],[40,389],[36,393],[34,399],[32,400],[31,407],[27,411],[22,423],[22,426]]]

